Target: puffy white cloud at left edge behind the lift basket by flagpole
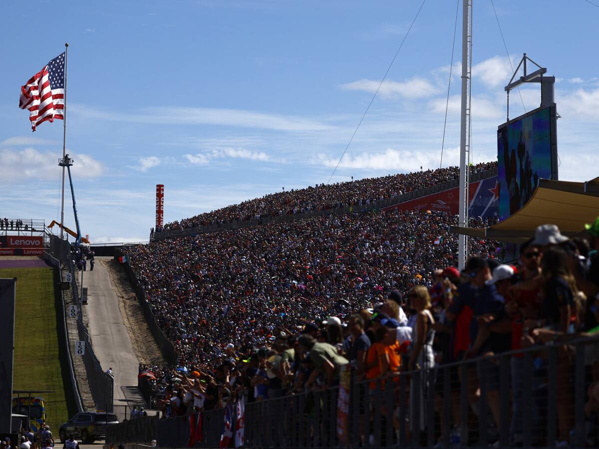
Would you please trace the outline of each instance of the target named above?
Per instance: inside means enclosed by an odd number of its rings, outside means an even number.
[[[81,179],[97,178],[104,172],[102,163],[89,154],[72,154],[74,159],[74,177]],[[0,167],[2,181],[47,181],[56,180],[60,174],[58,159],[61,154],[56,152],[41,153],[35,148],[25,148],[17,151],[12,149],[0,150]]]

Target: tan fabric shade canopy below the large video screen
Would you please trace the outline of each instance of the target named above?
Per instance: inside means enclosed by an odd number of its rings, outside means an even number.
[[[599,178],[587,183],[539,180],[533,196],[518,212],[484,229],[451,226],[450,232],[476,238],[520,243],[534,236],[537,226],[557,225],[574,236],[599,216]]]

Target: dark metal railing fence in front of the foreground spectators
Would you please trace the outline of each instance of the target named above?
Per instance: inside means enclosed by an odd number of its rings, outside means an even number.
[[[229,423],[232,438],[244,423],[243,447],[252,448],[598,447],[597,414],[585,415],[598,367],[599,337],[577,338],[375,380],[341,374],[336,387],[246,404]],[[224,417],[202,412],[195,445],[217,447]],[[156,421],[159,446],[188,438],[189,418]]]

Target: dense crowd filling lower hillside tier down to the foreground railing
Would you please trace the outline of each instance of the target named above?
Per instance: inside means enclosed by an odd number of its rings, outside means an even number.
[[[385,388],[400,372],[538,347],[526,385],[525,359],[516,354],[509,360],[509,436],[510,445],[522,445],[528,409],[537,426],[533,445],[546,445],[546,430],[538,430],[546,419],[539,408],[547,404],[542,385],[549,362],[543,348],[557,343],[556,422],[542,428],[555,425],[556,447],[567,447],[574,435],[575,388],[568,342],[599,332],[599,218],[588,226],[588,239],[569,239],[556,226],[540,226],[521,245],[514,265],[498,262],[494,244],[473,242],[479,255],[470,257],[462,272],[453,266],[455,241],[444,231],[452,220],[398,212],[328,217],[318,226],[298,220],[271,230],[256,227],[238,236],[204,235],[132,251],[148,300],[181,353],[177,367],[144,367],[156,374],[163,416],[219,408],[241,395],[252,402],[326,389],[338,384],[341,369],[348,367],[356,380],[365,381],[353,393],[363,398],[374,395],[377,379]],[[585,444],[594,446],[599,345],[596,339],[589,342],[583,427],[591,429]],[[468,367],[462,385],[468,390],[469,419],[482,420],[482,402],[490,411],[493,442],[502,424],[500,366],[494,359],[482,361]],[[420,410],[412,408],[407,419],[421,413],[423,430],[426,408],[434,404],[434,412],[441,412],[442,374],[450,375],[452,386],[452,445],[473,444],[459,441],[462,373],[457,368],[420,378],[422,388],[416,391],[434,400],[420,398]],[[483,379],[485,396],[479,389]],[[395,386],[385,392],[398,404]],[[523,404],[524,389],[539,389],[530,395],[532,404]],[[306,405],[314,406],[319,405]],[[437,424],[439,436],[443,421]],[[361,415],[359,425],[362,444],[372,444],[374,421]],[[386,425],[393,426],[397,442],[397,410]]]

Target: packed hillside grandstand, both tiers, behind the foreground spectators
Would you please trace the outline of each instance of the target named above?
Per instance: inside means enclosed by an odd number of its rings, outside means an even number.
[[[477,165],[473,173],[494,175],[495,164]],[[123,251],[181,363],[192,366],[219,359],[228,344],[264,344],[269,334],[324,320],[331,311],[370,307],[392,289],[407,293],[416,284],[431,286],[434,269],[456,265],[457,239],[447,232],[455,217],[438,211],[382,212],[374,199],[440,192],[455,186],[457,174],[454,167],[276,193],[165,227],[243,218],[248,210],[273,213],[283,201],[296,201],[296,213],[279,212],[282,222],[161,237]],[[434,181],[441,184],[431,185]],[[324,190],[322,196],[315,194],[318,189]],[[305,213],[328,212],[331,204],[346,208],[335,215]],[[473,220],[471,226],[485,223]],[[157,235],[163,233],[168,234]],[[493,242],[472,246],[473,253],[500,255]]]

